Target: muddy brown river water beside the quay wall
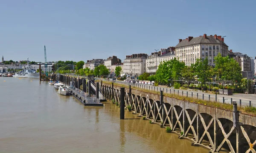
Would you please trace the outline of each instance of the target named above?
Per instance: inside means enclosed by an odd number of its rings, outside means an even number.
[[[105,102],[84,107],[49,82],[0,77],[0,153],[207,153]]]

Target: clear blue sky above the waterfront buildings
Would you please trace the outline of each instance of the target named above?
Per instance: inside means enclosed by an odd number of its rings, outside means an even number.
[[[0,0],[5,60],[106,59],[150,54],[178,39],[221,35],[256,56],[256,0]]]

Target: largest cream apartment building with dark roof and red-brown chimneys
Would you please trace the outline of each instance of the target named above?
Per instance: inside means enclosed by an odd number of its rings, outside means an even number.
[[[216,34],[179,39],[179,43],[175,46],[176,58],[188,66],[195,63],[196,59],[206,57],[208,57],[209,65],[214,66],[214,57],[218,53],[225,57],[228,55],[227,51],[228,46],[224,43],[224,38]]]

